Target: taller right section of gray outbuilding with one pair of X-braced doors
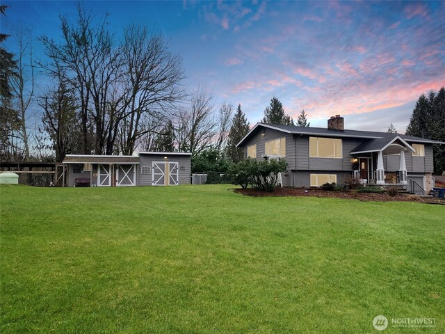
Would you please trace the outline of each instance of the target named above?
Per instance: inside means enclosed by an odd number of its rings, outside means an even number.
[[[139,152],[139,185],[190,184],[191,155],[183,152]]]

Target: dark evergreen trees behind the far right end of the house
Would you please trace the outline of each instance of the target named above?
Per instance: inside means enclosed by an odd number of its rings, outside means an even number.
[[[435,94],[430,92],[428,98],[421,95],[407,127],[406,134],[435,141],[445,141],[445,88]],[[434,173],[442,175],[445,170],[444,145],[432,145]]]

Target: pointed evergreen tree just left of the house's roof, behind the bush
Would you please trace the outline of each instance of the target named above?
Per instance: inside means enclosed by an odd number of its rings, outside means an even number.
[[[237,148],[236,144],[248,134],[249,129],[249,122],[245,118],[243,111],[241,111],[241,104],[238,104],[238,109],[236,109],[234,118],[232,118],[232,126],[230,127],[229,139],[227,141],[227,156],[234,162],[244,159],[243,148]]]

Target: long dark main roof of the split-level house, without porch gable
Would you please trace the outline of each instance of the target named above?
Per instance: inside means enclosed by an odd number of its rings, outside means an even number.
[[[440,141],[433,141],[428,138],[419,138],[413,136],[406,136],[404,134],[390,134],[387,132],[373,132],[373,131],[362,131],[362,130],[348,130],[344,131],[327,129],[325,127],[297,127],[295,125],[277,125],[277,124],[268,124],[268,123],[257,123],[252,127],[250,132],[245,135],[243,139],[238,143],[238,147],[243,146],[245,141],[250,137],[250,135],[258,128],[258,127],[267,127],[269,129],[275,129],[277,131],[281,131],[287,134],[307,134],[311,136],[326,136],[326,137],[341,137],[341,138],[369,138],[369,139],[378,139],[378,138],[395,138],[400,137],[405,141],[415,142],[415,143],[434,143],[434,144],[445,144]]]

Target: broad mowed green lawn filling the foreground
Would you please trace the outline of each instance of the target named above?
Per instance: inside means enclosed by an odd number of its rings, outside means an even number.
[[[0,333],[445,333],[444,206],[231,187],[1,186]]]

